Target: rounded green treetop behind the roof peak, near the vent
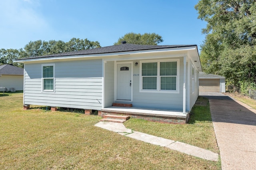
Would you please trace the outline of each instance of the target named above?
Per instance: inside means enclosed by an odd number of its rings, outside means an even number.
[[[120,37],[114,45],[121,44],[122,41],[126,41],[126,43],[130,44],[141,44],[141,45],[158,45],[162,43],[164,40],[162,37],[156,33],[126,33],[124,36]]]

